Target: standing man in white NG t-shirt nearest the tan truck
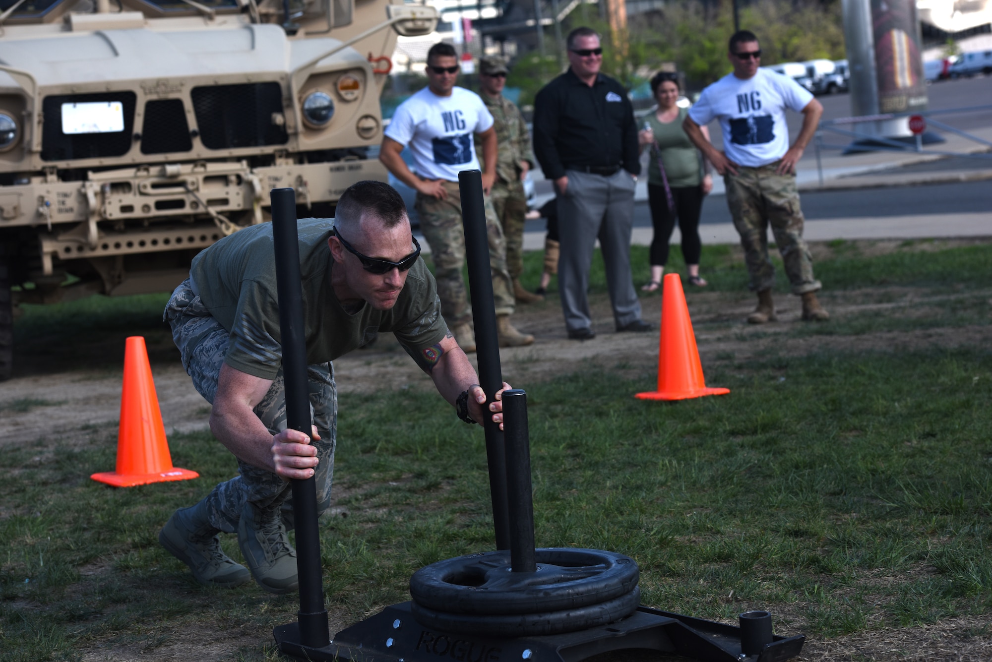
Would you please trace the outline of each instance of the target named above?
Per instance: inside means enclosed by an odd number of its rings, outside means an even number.
[[[465,235],[461,225],[458,172],[479,169],[472,140],[473,134],[479,134],[486,165],[482,189],[499,344],[500,347],[530,345],[534,336],[523,334],[510,324],[515,305],[513,280],[506,268],[502,226],[489,200],[489,190],[496,177],[493,116],[478,94],[454,86],[458,58],[450,44],[431,47],[427,74],[428,86],[396,109],[386,129],[379,160],[397,179],[417,190],[416,209],[421,231],[431,245],[441,314],[458,346],[465,352],[474,352],[472,310],[461,276],[465,264]],[[416,174],[400,156],[407,146],[410,146],[417,166]]]

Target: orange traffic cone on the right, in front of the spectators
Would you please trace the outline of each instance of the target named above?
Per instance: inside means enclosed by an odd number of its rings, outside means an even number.
[[[692,320],[685,305],[682,278],[665,276],[662,293],[662,342],[658,350],[658,390],[638,393],[642,400],[684,400],[703,395],[722,395],[729,388],[707,388],[702,378],[699,350],[695,346]]]

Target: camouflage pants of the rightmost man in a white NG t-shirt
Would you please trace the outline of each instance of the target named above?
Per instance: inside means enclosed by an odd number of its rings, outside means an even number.
[[[761,167],[739,165],[736,175],[728,172],[723,176],[727,206],[744,248],[748,286],[761,291],[775,284],[775,268],[768,259],[771,225],[793,293],[814,292],[821,285],[812,275],[812,258],[803,240],[804,219],[796,175],[776,174],[778,166],[779,162]]]

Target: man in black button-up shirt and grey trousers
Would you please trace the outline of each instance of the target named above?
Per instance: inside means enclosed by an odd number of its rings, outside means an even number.
[[[599,239],[617,331],[647,331],[630,273],[634,188],[641,172],[634,110],[623,86],[602,73],[599,35],[568,35],[568,70],[538,92],[534,153],[555,181],[561,257],[558,290],[568,337],[595,337],[586,296]]]

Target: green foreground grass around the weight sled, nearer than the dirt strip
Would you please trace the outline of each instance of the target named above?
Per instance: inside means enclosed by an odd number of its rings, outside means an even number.
[[[531,387],[538,544],[633,556],[647,605],[768,607],[818,637],[992,610],[986,350],[728,357],[710,381],[731,394],[647,403],[640,382],[583,372]],[[425,564],[491,548],[482,434],[454,422],[430,392],[341,397],[347,516],[321,534],[346,620],[407,599]],[[205,433],[171,444],[203,478],[113,490],[88,479],[111,444],[41,466],[37,449],[0,452],[0,660],[141,632],[154,648],[161,628],[201,622],[251,623],[261,643],[294,619],[293,597],[200,588],[158,546],[172,509],[235,469]]]

